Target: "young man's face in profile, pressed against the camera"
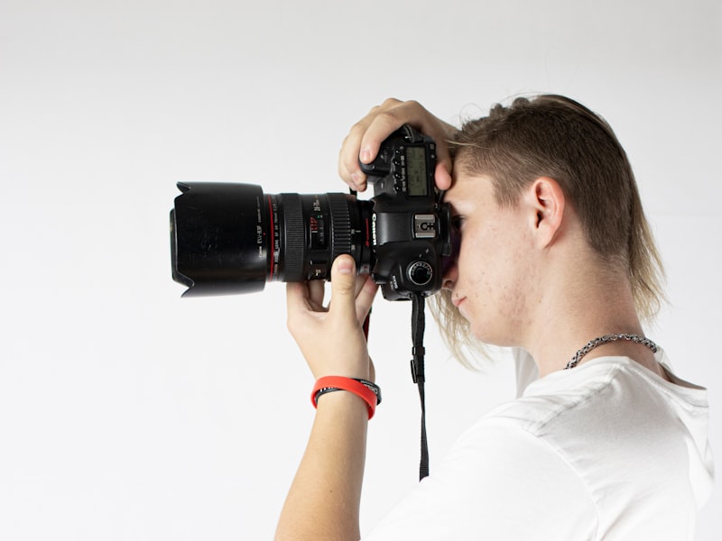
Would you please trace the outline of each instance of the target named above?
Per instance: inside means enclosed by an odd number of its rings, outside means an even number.
[[[456,265],[444,276],[454,305],[478,339],[519,344],[534,285],[533,215],[523,206],[498,206],[492,179],[483,175],[456,172],[444,200],[461,236]]]

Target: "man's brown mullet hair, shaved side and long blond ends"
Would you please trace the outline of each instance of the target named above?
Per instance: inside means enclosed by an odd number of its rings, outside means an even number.
[[[449,145],[454,167],[493,180],[500,206],[516,205],[535,179],[559,182],[599,261],[627,272],[639,316],[656,315],[664,300],[662,261],[632,167],[601,116],[564,96],[517,98],[464,124]],[[461,348],[474,344],[467,321],[448,290],[437,297],[434,316],[450,349],[465,362]]]

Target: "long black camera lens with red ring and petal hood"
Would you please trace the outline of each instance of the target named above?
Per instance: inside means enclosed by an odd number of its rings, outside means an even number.
[[[264,194],[260,186],[179,183],[171,210],[173,280],[184,296],[250,293],[266,280],[329,277],[341,253],[373,265],[371,203],[347,194]]]

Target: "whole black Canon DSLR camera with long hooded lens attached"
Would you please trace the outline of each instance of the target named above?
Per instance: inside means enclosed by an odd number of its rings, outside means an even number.
[[[261,291],[266,280],[329,280],[342,253],[386,299],[438,291],[452,245],[449,205],[434,186],[436,144],[404,125],[361,168],[374,188],[369,200],[180,182],[171,263],[173,280],[188,288],[183,296]]]

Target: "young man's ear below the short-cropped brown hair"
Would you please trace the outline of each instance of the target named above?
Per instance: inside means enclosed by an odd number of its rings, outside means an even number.
[[[556,180],[540,177],[532,182],[524,199],[534,214],[530,219],[535,243],[539,248],[546,248],[560,234],[566,204],[564,192]]]

